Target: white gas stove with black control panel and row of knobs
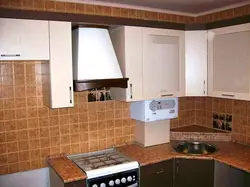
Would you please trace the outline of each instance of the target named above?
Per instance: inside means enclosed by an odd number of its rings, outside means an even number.
[[[139,186],[139,164],[116,149],[68,156],[87,175],[87,187]]]

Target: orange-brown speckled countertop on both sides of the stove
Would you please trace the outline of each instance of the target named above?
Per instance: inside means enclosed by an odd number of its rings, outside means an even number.
[[[173,151],[172,143],[152,147],[137,144],[117,148],[124,155],[137,160],[141,166],[169,160],[172,158],[214,159],[250,173],[250,147],[232,142],[209,142],[217,146],[218,151],[211,155],[190,156]],[[60,176],[64,183],[86,179],[85,173],[65,155],[49,157],[48,165]],[[70,172],[69,172],[70,171]]]

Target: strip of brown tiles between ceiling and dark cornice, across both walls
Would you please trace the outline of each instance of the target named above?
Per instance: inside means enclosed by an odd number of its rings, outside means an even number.
[[[0,0],[0,7],[23,10],[67,12],[76,14],[135,18],[178,23],[207,23],[250,14],[250,5],[245,5],[242,7],[219,11],[216,13],[198,17],[136,9],[90,5],[83,3],[56,2],[50,0]]]

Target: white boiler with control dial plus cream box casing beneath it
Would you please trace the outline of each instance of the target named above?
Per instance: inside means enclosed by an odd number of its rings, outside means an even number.
[[[131,118],[136,120],[136,141],[144,146],[170,142],[170,120],[178,117],[178,98],[131,103]]]

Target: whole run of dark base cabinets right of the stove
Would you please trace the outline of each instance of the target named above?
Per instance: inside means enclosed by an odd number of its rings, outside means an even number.
[[[140,187],[250,187],[250,173],[203,159],[172,159],[141,167]]]

